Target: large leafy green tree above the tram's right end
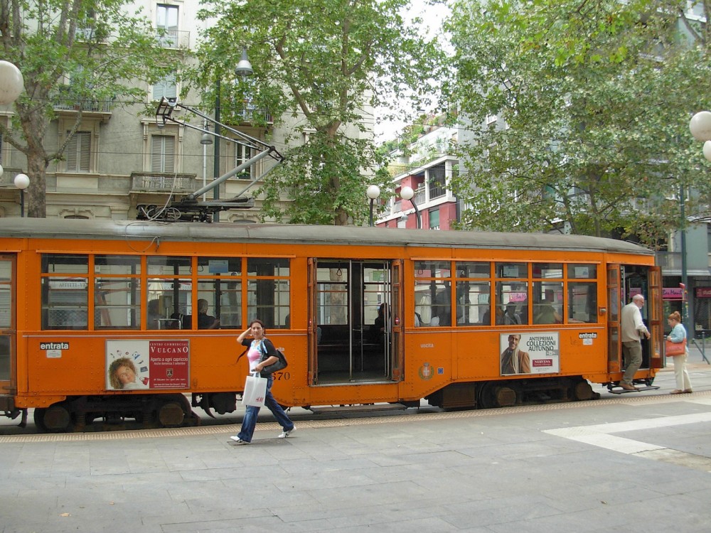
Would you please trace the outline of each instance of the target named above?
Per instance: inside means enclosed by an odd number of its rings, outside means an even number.
[[[685,20],[685,6],[459,1],[447,26],[452,95],[474,124],[461,154],[466,172],[454,183],[473,206],[464,226],[565,224],[648,244],[678,227],[669,198],[680,184],[707,190],[688,121],[711,103],[705,28]],[[479,127],[493,116],[498,124]]]

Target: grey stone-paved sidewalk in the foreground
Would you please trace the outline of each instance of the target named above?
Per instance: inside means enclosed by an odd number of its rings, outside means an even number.
[[[693,357],[692,357],[693,359]],[[0,437],[1,533],[711,530],[711,367],[694,394]],[[260,419],[260,420],[262,420]]]

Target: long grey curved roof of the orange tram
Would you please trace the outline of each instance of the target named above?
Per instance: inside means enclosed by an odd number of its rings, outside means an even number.
[[[141,220],[76,220],[57,218],[0,219],[0,237],[45,239],[137,239],[155,237],[185,242],[269,242],[274,244],[353,244],[370,246],[559,249],[653,255],[631,242],[584,235],[424,231],[403,228],[151,222]]]

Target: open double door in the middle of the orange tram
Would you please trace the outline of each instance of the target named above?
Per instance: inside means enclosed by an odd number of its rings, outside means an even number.
[[[397,266],[380,260],[315,259],[309,267],[310,383],[398,379],[400,291],[399,284],[395,291],[393,284],[394,271],[397,278],[400,275]]]

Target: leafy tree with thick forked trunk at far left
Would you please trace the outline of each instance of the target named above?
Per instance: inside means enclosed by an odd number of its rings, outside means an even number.
[[[90,102],[143,102],[140,82],[154,83],[178,70],[175,51],[157,46],[158,33],[146,18],[129,14],[131,5],[127,0],[0,1],[3,58],[20,69],[25,85],[14,103],[11,128],[0,124],[0,134],[27,158],[30,217],[46,216],[46,170],[62,158]],[[48,147],[57,99],[75,102],[77,117],[65,143]]]

